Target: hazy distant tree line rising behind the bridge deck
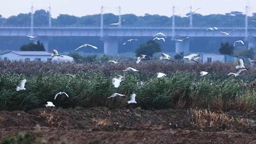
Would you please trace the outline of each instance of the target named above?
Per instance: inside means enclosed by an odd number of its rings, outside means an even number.
[[[46,27],[48,26],[49,12],[40,9],[34,13],[34,26]],[[174,16],[176,27],[189,27],[188,13],[185,17]],[[150,15],[136,16],[134,14],[125,14],[121,16],[122,19],[126,19],[122,22],[122,26],[129,27],[171,27],[172,17]],[[86,15],[82,17],[76,17],[67,14],[60,14],[57,18],[52,18],[52,26],[94,26],[99,27],[101,24],[101,14]],[[253,13],[248,18],[248,26],[256,27],[256,13]],[[109,26],[110,23],[117,23],[118,16],[112,13],[104,14],[104,24]],[[9,18],[3,18],[0,15],[0,26],[30,26],[30,13],[20,13],[17,16],[11,16]],[[201,15],[193,14],[193,26],[194,27],[244,27],[245,15],[239,11],[232,11],[226,14],[210,14]]]

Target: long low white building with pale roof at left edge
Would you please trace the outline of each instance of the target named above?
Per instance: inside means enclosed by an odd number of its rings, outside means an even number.
[[[9,51],[0,54],[1,60],[10,61],[50,61],[52,58],[50,53],[45,51]]]

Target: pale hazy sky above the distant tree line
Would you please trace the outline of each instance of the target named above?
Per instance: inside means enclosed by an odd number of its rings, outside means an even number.
[[[158,2],[157,2],[158,1]],[[19,13],[28,13],[31,4],[37,9],[52,7],[52,16],[69,14],[84,16],[100,13],[101,5],[105,6],[104,13],[118,14],[118,6],[121,13],[133,13],[139,16],[145,13],[159,14],[170,17],[172,7],[176,7],[176,15],[184,16],[193,9],[201,8],[198,13],[225,14],[230,11],[245,12],[245,6],[250,5],[250,12],[256,12],[256,0],[0,0],[0,15],[9,17]]]

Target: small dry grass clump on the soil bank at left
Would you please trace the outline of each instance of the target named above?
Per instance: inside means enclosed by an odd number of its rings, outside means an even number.
[[[47,113],[44,110],[44,112],[40,113],[40,117],[45,119],[47,126],[58,126],[59,127],[62,123],[62,121],[60,121],[60,115],[56,115],[53,112]]]

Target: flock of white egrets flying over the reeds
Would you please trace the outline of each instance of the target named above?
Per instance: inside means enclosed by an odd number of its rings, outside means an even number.
[[[201,9],[201,8],[198,8],[198,9]],[[193,13],[195,13],[198,9],[194,10]],[[122,21],[125,21],[125,19],[122,20]],[[110,25],[119,26],[119,25],[120,25],[120,22],[119,22],[119,23],[113,23],[113,24],[110,24]],[[209,28],[207,28],[206,30],[207,30],[207,31],[216,31],[216,30],[218,30],[218,28],[217,28],[217,27],[209,27]],[[232,30],[232,31],[234,31],[234,30]],[[229,31],[229,32],[220,31],[220,33],[223,33],[224,35],[229,36],[229,33],[232,32],[232,31]],[[33,40],[33,39],[35,39],[37,36],[27,36],[27,37],[29,37],[30,40]],[[163,33],[161,33],[161,32],[155,34],[153,37],[154,37],[153,41],[160,41],[160,40],[162,40],[162,41],[164,41],[164,42],[165,42],[165,38],[167,38],[167,36],[165,36],[165,34],[163,34]],[[177,42],[181,42],[181,43],[182,43],[182,42],[184,42],[184,41],[187,40],[187,39],[189,39],[189,37],[186,37],[186,38],[183,38],[183,39],[174,39],[174,41],[177,41]],[[129,40],[127,40],[126,42],[124,42],[123,45],[127,45],[128,43],[131,43],[131,42],[137,41],[137,40],[138,40],[138,39],[129,39]],[[235,47],[235,45],[236,45],[237,43],[241,43],[242,45],[245,45],[242,40],[238,40],[238,41],[235,41],[235,42],[234,42],[234,45],[233,45],[233,46]],[[77,48],[75,49],[75,51],[77,51],[77,50],[79,50],[79,49],[81,49],[81,48],[88,48],[88,47],[91,47],[91,48],[94,48],[94,49],[98,49],[97,46],[90,45],[90,44],[84,44],[84,45],[81,45],[81,46],[77,47]],[[54,57],[64,57],[64,56],[63,56],[63,55],[59,55],[57,50],[53,50],[52,57],[54,58]],[[187,55],[187,56],[184,56],[183,58],[184,58],[185,60],[188,60],[188,61],[192,61],[192,62],[195,62],[195,63],[199,63],[198,60],[200,59],[200,54],[189,54],[189,55]],[[146,55],[146,54],[141,54],[139,57],[137,57],[136,63],[140,63],[142,60],[150,60],[150,59],[147,58],[147,55]],[[161,54],[161,56],[159,57],[159,60],[167,60],[167,61],[170,61],[170,62],[174,62],[174,61],[171,60],[171,56],[168,55],[168,54],[165,54],[165,53],[162,53],[162,54]],[[119,58],[118,58],[116,61],[111,60],[111,61],[109,61],[109,62],[110,62],[110,63],[117,64],[118,61],[119,61]],[[243,61],[243,59],[239,58],[238,65],[236,66],[236,69],[240,69],[240,70],[238,70],[237,73],[230,72],[230,73],[228,73],[228,75],[234,75],[235,77],[237,77],[237,76],[239,76],[239,74],[240,74],[241,72],[247,70],[247,68],[244,66],[244,61]],[[139,72],[138,70],[136,70],[136,69],[134,69],[134,68],[132,68],[132,67],[128,67],[128,68],[126,68],[126,69],[123,70],[123,71],[124,71],[124,72],[127,72],[127,71]],[[200,76],[206,76],[206,75],[210,75],[210,74],[212,74],[212,73],[204,72],[204,71],[200,72]],[[67,74],[67,75],[70,75],[70,76],[74,77],[74,76],[71,75],[71,74]],[[167,76],[165,73],[157,72],[157,78],[162,78],[162,77],[168,77],[168,76]],[[112,79],[112,84],[114,85],[115,88],[118,88],[118,87],[120,86],[121,82],[123,81],[123,78],[124,78],[123,76],[118,75],[117,78],[113,78],[113,79]],[[17,90],[17,91],[26,90],[26,88],[25,88],[25,83],[26,83],[26,82],[27,82],[26,79],[20,81],[19,86],[17,87],[16,90]],[[59,95],[60,95],[60,96],[66,96],[67,98],[69,98],[69,96],[68,96],[67,93],[65,93],[65,92],[58,92],[58,93],[55,95],[54,99],[56,99]],[[111,98],[120,97],[120,96],[123,97],[123,96],[125,96],[125,95],[119,94],[119,93],[114,93],[114,94],[112,94],[111,96],[109,96],[108,98],[111,99]],[[131,95],[130,95],[130,100],[128,101],[128,104],[137,103],[135,97],[136,97],[136,94],[135,94],[135,93],[131,94]],[[53,102],[51,102],[51,101],[47,101],[47,104],[46,104],[45,106],[46,106],[46,107],[55,107],[55,105],[54,105]]]

